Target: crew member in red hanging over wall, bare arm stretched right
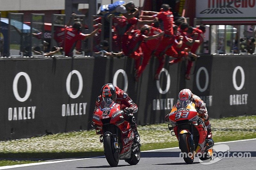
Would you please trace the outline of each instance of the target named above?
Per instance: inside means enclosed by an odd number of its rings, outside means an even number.
[[[141,27],[140,30],[129,30],[123,36],[123,52],[124,55],[135,59],[135,69],[138,70],[140,67],[140,54],[139,47],[142,41],[152,40],[154,38],[162,36],[164,33],[148,36],[149,28],[146,26]],[[129,35],[131,37],[129,38]]]

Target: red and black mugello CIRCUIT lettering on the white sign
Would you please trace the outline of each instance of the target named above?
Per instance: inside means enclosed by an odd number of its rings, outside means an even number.
[[[243,14],[238,8],[254,8],[256,0],[208,0],[200,14]]]

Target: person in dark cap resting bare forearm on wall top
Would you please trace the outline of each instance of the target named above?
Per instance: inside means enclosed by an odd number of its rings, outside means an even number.
[[[98,52],[95,52],[93,56],[108,56],[108,57],[120,57],[122,56],[123,52],[119,53],[110,53],[108,52],[108,41],[103,40],[99,45],[96,46]]]

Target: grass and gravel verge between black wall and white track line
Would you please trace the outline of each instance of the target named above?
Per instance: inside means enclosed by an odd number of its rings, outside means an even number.
[[[256,116],[211,119],[210,122],[214,142],[256,138]],[[167,123],[138,126],[138,131],[141,151],[179,146],[177,138],[168,130]],[[0,142],[0,166],[102,155],[103,144],[95,130]]]

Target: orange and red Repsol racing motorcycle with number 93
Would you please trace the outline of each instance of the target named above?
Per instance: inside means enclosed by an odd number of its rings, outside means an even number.
[[[178,100],[169,114],[168,128],[176,135],[184,161],[192,164],[194,156],[199,159],[212,159],[213,143],[205,139],[207,129],[204,120],[198,116],[195,104],[190,100]],[[172,134],[173,135],[173,134]]]

